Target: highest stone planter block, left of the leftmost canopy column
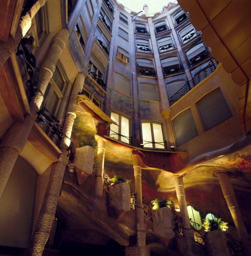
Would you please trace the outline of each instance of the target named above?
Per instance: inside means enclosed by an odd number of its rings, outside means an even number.
[[[84,146],[76,149],[74,164],[87,173],[93,173],[93,161],[95,149],[91,146]]]

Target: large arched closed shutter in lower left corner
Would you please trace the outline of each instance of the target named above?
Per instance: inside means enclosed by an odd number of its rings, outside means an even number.
[[[0,245],[28,248],[37,173],[18,157],[0,198]]]

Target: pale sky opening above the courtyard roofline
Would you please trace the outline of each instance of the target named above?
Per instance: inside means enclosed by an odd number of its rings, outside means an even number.
[[[143,5],[148,5],[148,13],[161,12],[162,7],[167,5],[168,2],[174,2],[174,0],[118,0],[125,7],[134,12],[143,11]]]

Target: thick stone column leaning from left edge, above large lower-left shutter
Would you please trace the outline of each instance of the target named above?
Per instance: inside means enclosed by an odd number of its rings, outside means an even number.
[[[50,51],[40,68],[38,92],[30,102],[31,116],[26,116],[22,123],[12,123],[0,144],[0,197],[16,162],[16,158],[24,149],[33,122],[37,116],[37,111],[39,111],[42,104],[46,87],[55,71],[58,58],[68,39],[69,33],[66,29],[59,30],[55,35]]]

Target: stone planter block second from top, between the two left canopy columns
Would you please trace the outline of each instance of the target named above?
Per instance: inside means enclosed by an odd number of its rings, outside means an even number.
[[[109,188],[109,205],[113,205],[117,209],[130,211],[131,197],[128,183],[119,183]]]

